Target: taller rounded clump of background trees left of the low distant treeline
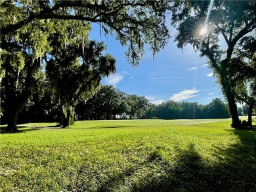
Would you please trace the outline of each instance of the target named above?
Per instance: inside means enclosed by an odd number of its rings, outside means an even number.
[[[141,119],[146,114],[148,106],[149,102],[144,96],[126,94],[114,86],[104,85],[100,87],[95,96],[79,102],[75,113],[79,120],[119,119],[121,117]]]

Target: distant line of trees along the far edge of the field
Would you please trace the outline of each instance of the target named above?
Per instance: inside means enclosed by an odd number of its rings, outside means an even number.
[[[58,100],[51,92],[33,94],[20,113],[18,123],[60,121]],[[1,124],[7,123],[5,109]],[[247,115],[248,107],[239,108],[239,115]],[[100,119],[215,119],[227,118],[228,108],[219,98],[207,105],[168,100],[152,104],[144,96],[126,94],[114,86],[104,85],[91,98],[79,100],[74,120]]]

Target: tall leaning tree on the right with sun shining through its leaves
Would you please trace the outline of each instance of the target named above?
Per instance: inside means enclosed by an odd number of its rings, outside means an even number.
[[[171,8],[177,46],[183,48],[190,44],[209,60],[209,67],[217,75],[228,101],[234,128],[241,125],[235,85],[228,70],[236,66],[232,58],[240,39],[255,34],[255,10],[255,1],[173,1]],[[220,46],[220,37],[226,48]]]

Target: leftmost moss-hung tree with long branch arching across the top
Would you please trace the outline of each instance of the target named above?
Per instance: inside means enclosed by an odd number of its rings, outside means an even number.
[[[8,132],[17,131],[18,113],[37,86],[35,73],[45,53],[51,51],[47,39],[54,33],[54,20],[100,25],[106,34],[115,35],[127,47],[127,60],[133,65],[139,64],[144,44],[156,54],[169,39],[165,26],[167,1],[10,0],[1,1],[0,6],[0,80],[1,90],[5,90],[1,103],[9,116]]]

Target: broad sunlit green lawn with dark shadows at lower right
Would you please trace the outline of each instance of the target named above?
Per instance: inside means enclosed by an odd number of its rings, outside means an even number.
[[[0,135],[1,191],[256,191],[256,131],[228,119],[54,125]]]

